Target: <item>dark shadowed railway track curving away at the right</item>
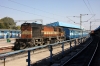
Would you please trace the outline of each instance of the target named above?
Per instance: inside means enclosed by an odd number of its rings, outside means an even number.
[[[98,48],[98,44],[100,45],[99,41],[100,40],[97,39],[97,37],[94,37],[93,41],[84,50],[82,50],[80,53],[73,56],[71,59],[67,60],[60,66],[98,66],[96,63],[100,64],[99,62],[97,62],[100,59],[96,59],[100,56],[100,48]],[[97,49],[99,50],[97,51]]]

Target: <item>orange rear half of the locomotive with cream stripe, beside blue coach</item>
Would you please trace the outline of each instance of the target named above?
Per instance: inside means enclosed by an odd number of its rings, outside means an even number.
[[[65,40],[65,33],[61,27],[44,26],[42,32],[44,42],[48,44]]]

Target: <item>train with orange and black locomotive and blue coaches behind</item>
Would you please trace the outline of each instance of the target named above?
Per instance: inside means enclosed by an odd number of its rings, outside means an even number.
[[[19,50],[27,47],[51,44],[81,36],[81,29],[78,26],[74,28],[76,26],[66,27],[66,25],[61,22],[54,22],[47,25],[23,23],[21,25],[21,38],[16,39],[14,49]]]

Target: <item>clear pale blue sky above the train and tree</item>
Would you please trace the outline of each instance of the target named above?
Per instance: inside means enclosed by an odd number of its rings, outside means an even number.
[[[56,21],[82,25],[94,30],[100,25],[100,0],[0,0],[0,18],[11,17],[21,25],[25,21],[43,24]],[[75,16],[75,17],[73,17]]]

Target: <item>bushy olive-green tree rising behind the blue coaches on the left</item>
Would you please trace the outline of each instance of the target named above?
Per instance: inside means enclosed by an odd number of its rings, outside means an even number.
[[[4,17],[1,19],[4,26],[5,26],[5,29],[14,29],[16,27],[16,23],[14,22],[14,20],[10,17]]]

